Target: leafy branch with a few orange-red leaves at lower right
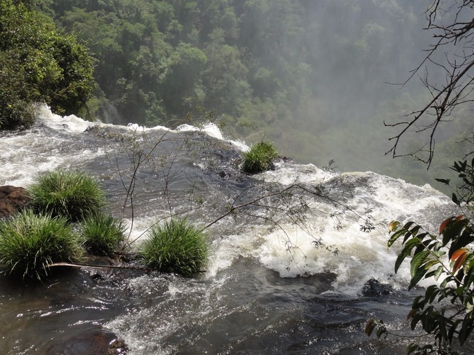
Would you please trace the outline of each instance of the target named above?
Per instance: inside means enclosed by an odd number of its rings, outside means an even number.
[[[395,272],[408,258],[412,289],[421,280],[432,277],[439,283],[428,286],[424,295],[412,302],[408,313],[412,330],[421,326],[434,338],[432,344],[412,344],[408,354],[448,354],[453,340],[463,345],[474,329],[474,253],[469,246],[474,242],[471,221],[464,215],[446,219],[439,235],[430,235],[418,224],[410,221],[403,226],[398,221],[390,224],[391,247],[401,239],[403,249],[395,262]],[[387,336],[383,322],[370,320],[365,329],[368,335],[375,328],[376,335]]]

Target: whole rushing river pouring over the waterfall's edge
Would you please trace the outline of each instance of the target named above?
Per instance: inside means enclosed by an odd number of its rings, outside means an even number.
[[[246,146],[224,140],[215,126],[145,130],[46,108],[32,129],[0,138],[0,185],[26,187],[55,167],[85,170],[120,217],[134,162],[157,142],[138,169],[133,208],[125,203],[129,240],[138,245],[170,213],[200,226],[215,222],[207,228],[206,272],[185,278],[84,268],[27,286],[2,278],[0,355],[47,354],[99,328],[123,338],[131,355],[405,354],[410,340],[367,338],[364,328],[375,317],[408,333],[417,291],[406,291],[408,268],[393,273],[387,225],[414,220],[437,230],[455,206],[428,185],[292,161],[248,176],[238,169]],[[306,192],[259,200],[293,184]],[[224,217],[249,201],[261,203]],[[383,285],[367,288],[371,279]]]

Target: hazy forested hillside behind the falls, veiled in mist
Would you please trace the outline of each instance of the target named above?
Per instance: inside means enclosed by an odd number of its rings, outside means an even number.
[[[469,109],[439,129],[429,171],[384,155],[398,131],[383,122],[403,120],[428,98],[417,76],[395,85],[432,41],[423,30],[426,1],[42,0],[38,7],[95,57],[89,114],[104,122],[170,127],[212,111],[228,138],[264,136],[301,163],[334,159],[339,171],[435,188],[433,179],[448,176],[467,152],[457,134],[473,128]],[[430,71],[443,80],[436,75]]]

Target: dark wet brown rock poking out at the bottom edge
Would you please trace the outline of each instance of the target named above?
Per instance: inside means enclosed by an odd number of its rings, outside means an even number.
[[[117,355],[127,354],[128,347],[111,331],[95,329],[53,345],[46,355]]]

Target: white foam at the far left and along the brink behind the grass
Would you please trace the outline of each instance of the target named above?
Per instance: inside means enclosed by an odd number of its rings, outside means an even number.
[[[42,129],[28,129],[21,134],[7,135],[0,140],[1,185],[26,186],[32,183],[38,173],[54,170],[57,167],[80,168],[93,158],[106,154],[104,147],[78,147],[75,136],[81,136],[91,127],[114,127],[126,131],[172,131],[163,126],[152,128],[137,124],[127,126],[111,125],[102,122],[89,122],[78,116],[60,116],[46,105],[37,107],[37,122],[58,132],[58,135],[45,133]],[[214,138],[225,140],[219,128],[208,124],[202,129],[183,125],[176,131],[203,131]],[[68,142],[67,140],[71,140]],[[241,150],[248,147],[237,140],[226,140]]]

